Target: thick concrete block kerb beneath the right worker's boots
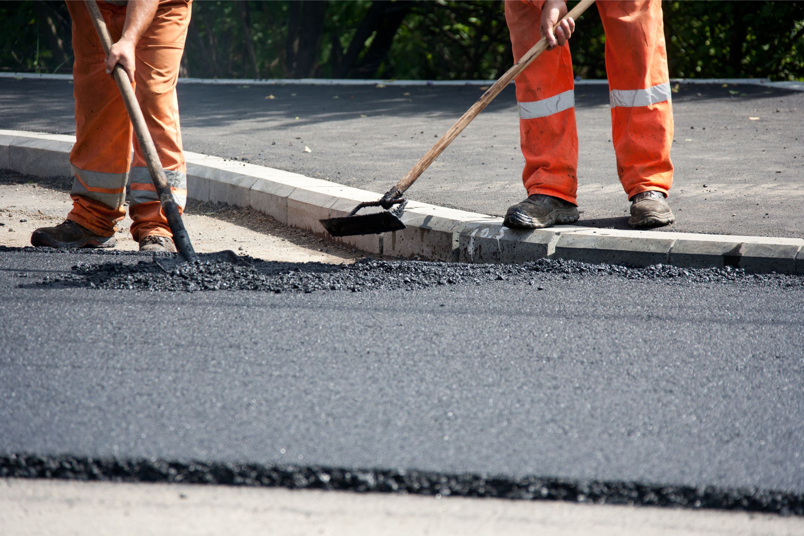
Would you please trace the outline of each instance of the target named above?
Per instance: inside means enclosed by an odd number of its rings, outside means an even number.
[[[0,129],[0,169],[39,177],[72,174],[74,136]],[[503,219],[411,201],[408,228],[383,235],[333,238],[319,219],[347,215],[376,192],[246,162],[185,152],[191,199],[253,207],[290,227],[378,255],[466,263],[522,263],[543,257],[683,268],[745,268],[804,275],[804,239],[704,235],[558,225],[519,231]]]

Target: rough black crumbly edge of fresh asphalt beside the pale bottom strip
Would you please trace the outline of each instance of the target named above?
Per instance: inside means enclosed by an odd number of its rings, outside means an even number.
[[[804,515],[804,493],[543,477],[507,478],[403,468],[329,468],[10,454],[0,456],[0,477],[416,493],[436,497],[496,497]]]

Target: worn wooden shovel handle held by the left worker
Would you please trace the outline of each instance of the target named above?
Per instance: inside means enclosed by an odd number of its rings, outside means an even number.
[[[109,49],[112,48],[112,36],[109,35],[109,29],[106,27],[103,15],[100,14],[100,9],[95,0],[84,0],[84,3],[89,10],[98,37],[100,37],[100,43],[103,44],[106,57],[109,57]],[[137,136],[140,149],[142,149],[142,156],[146,160],[151,180],[154,181],[154,188],[159,196],[159,203],[162,203],[162,211],[165,212],[170,232],[173,233],[173,241],[176,244],[176,249],[178,249],[178,254],[183,256],[184,260],[198,260],[193,244],[190,242],[190,235],[187,234],[187,230],[184,228],[178,205],[173,199],[173,194],[170,193],[170,185],[167,183],[165,171],[162,170],[162,162],[159,162],[154,140],[148,131],[146,118],[142,115],[137,96],[134,95],[134,90],[131,88],[129,76],[125,74],[125,69],[122,68],[120,63],[114,66],[112,74],[117,82],[117,88],[120,89],[120,94],[123,96],[125,109],[129,112],[131,125],[133,125],[134,133]]]

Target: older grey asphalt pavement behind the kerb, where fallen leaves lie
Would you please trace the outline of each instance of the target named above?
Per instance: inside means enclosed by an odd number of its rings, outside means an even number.
[[[0,129],[75,133],[72,90],[67,80],[0,79]],[[481,95],[477,86],[178,85],[185,149],[378,193]],[[608,88],[578,85],[575,96],[583,211],[578,224],[629,228]],[[677,221],[660,231],[802,236],[804,92],[682,84],[672,98],[675,178],[669,201]],[[503,215],[524,198],[523,162],[511,86],[408,194]]]

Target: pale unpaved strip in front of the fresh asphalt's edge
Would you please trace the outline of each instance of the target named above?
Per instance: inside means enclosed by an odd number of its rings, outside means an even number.
[[[773,514],[213,485],[0,480],[0,525],[29,534],[802,534]]]

